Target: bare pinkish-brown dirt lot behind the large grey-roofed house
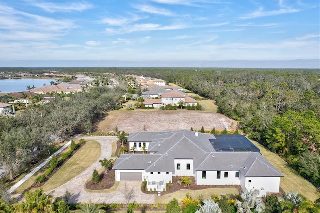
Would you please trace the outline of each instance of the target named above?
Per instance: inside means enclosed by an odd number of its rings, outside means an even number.
[[[112,132],[116,126],[118,130],[132,133],[136,131],[161,131],[190,129],[200,130],[235,130],[237,122],[218,113],[205,111],[160,111],[148,109],[134,109],[127,111],[125,108],[109,112],[95,126],[96,132]]]

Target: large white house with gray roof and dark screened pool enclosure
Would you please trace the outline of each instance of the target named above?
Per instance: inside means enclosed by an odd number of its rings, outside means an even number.
[[[150,154],[120,155],[113,166],[116,181],[145,180],[148,190],[163,191],[173,176],[193,176],[198,185],[241,185],[260,196],[279,192],[283,174],[243,135],[136,132],[128,142]]]

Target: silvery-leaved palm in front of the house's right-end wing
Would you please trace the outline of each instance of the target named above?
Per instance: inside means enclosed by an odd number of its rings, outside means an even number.
[[[243,202],[236,200],[235,206],[237,207],[237,213],[251,213],[251,209],[254,208],[257,212],[262,212],[265,205],[260,197],[258,197],[260,191],[258,189],[254,190],[242,190],[241,198]]]

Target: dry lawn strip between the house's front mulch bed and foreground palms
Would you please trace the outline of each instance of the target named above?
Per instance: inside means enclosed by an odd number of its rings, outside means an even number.
[[[193,198],[198,197],[199,195],[203,195],[205,199],[208,199],[210,196],[216,195],[224,195],[224,194],[239,194],[238,189],[236,188],[207,188],[203,190],[196,191],[176,191],[170,194],[165,194],[163,196],[155,196],[154,203],[167,204],[173,198],[177,199],[180,203],[186,194],[189,193]]]

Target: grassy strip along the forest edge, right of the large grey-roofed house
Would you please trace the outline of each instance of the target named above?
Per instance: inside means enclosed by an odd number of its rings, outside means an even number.
[[[320,197],[320,192],[310,182],[298,174],[298,172],[291,168],[283,159],[266,149],[260,143],[256,141],[252,142],[260,149],[261,154],[284,174],[284,177],[281,177],[280,187],[286,193],[289,191],[296,191],[311,201]]]

